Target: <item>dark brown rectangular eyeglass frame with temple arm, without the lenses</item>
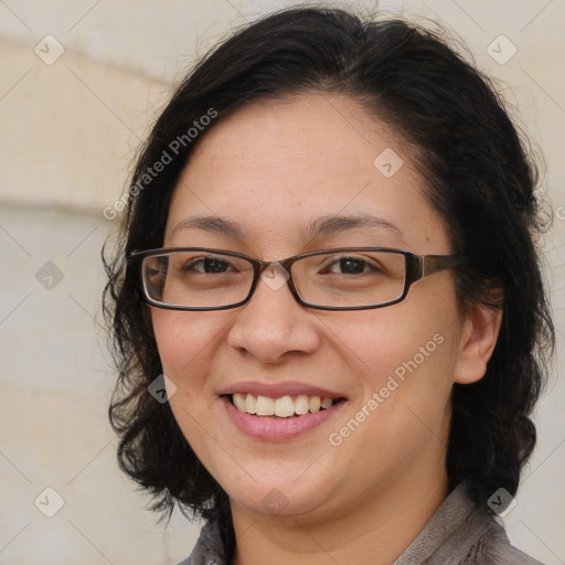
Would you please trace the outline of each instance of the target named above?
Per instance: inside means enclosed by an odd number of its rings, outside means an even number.
[[[238,257],[241,259],[245,259],[253,266],[253,281],[249,288],[249,292],[247,296],[233,305],[226,306],[179,306],[179,305],[168,305],[164,302],[159,302],[152,299],[149,296],[149,292],[146,287],[146,279],[143,277],[143,259],[147,257],[156,256],[156,255],[166,255],[174,252],[210,252],[218,255],[227,255],[232,257]],[[327,253],[333,252],[384,252],[384,253],[396,253],[404,256],[404,265],[405,265],[405,274],[404,274],[404,288],[402,295],[394,300],[388,300],[384,303],[379,305],[370,305],[370,306],[321,306],[313,305],[307,302],[298,292],[298,289],[295,286],[295,281],[292,279],[292,264],[302,257],[309,257],[312,255],[322,255]],[[146,249],[141,252],[132,252],[126,257],[126,279],[129,280],[134,290],[138,297],[140,297],[145,302],[153,306],[156,308],[161,308],[163,310],[180,310],[180,311],[214,311],[214,310],[228,310],[232,308],[238,308],[239,306],[245,305],[253,297],[255,289],[257,287],[257,282],[265,270],[267,270],[273,265],[279,265],[288,273],[288,287],[290,292],[297,300],[299,305],[306,306],[307,308],[313,308],[316,310],[332,310],[332,311],[343,311],[343,310],[373,310],[376,308],[384,308],[386,306],[396,305],[402,302],[406,296],[408,295],[408,290],[418,280],[434,275],[436,273],[441,273],[443,270],[447,270],[458,265],[463,265],[469,263],[470,258],[467,255],[418,255],[413,252],[404,250],[404,249],[395,249],[391,247],[335,247],[329,249],[317,249],[315,252],[301,253],[299,255],[292,255],[291,257],[287,257],[286,259],[280,260],[262,260],[256,259],[254,257],[249,257],[248,255],[244,255],[237,252],[230,252],[223,249],[215,249],[211,247],[161,247],[154,249]],[[140,290],[142,289],[142,290]]]

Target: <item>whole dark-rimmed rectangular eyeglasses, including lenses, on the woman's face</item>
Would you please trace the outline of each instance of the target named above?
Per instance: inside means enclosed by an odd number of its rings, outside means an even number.
[[[149,305],[225,310],[247,302],[259,278],[286,281],[296,300],[319,310],[382,308],[406,298],[417,280],[468,262],[465,255],[416,255],[384,247],[340,247],[264,262],[235,252],[164,247],[127,258],[127,277]]]

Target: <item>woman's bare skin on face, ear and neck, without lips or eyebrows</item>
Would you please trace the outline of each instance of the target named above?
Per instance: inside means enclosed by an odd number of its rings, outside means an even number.
[[[404,161],[373,166],[392,148]],[[445,222],[424,195],[414,149],[355,99],[303,94],[255,102],[203,135],[170,204],[163,246],[203,246],[276,262],[308,250],[384,246],[450,254]],[[300,226],[371,213],[397,228],[353,228],[317,239]],[[174,230],[194,215],[239,224],[243,238]],[[200,460],[228,493],[235,565],[390,564],[448,493],[445,469],[454,382],[484,374],[500,312],[457,307],[452,271],[416,282],[397,305],[360,311],[300,306],[288,286],[259,281],[245,306],[151,309],[171,409]],[[394,370],[444,341],[338,447],[339,431]],[[242,381],[301,381],[348,398],[339,416],[287,441],[250,438],[218,391]],[[262,503],[281,495],[274,515]]]

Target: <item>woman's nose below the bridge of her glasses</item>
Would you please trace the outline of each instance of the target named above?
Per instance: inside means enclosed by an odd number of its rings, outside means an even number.
[[[235,317],[227,335],[234,350],[265,364],[277,364],[290,353],[312,353],[320,335],[310,309],[297,302],[288,273],[274,264],[257,281],[255,291]]]

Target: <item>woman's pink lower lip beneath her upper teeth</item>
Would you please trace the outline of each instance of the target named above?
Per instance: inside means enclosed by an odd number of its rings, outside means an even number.
[[[345,402],[340,401],[331,408],[320,412],[303,414],[290,418],[268,418],[254,416],[246,412],[239,412],[227,396],[222,396],[227,415],[232,422],[244,433],[255,439],[264,441],[284,441],[301,436],[309,429],[320,426],[329,418],[341,412]]]

